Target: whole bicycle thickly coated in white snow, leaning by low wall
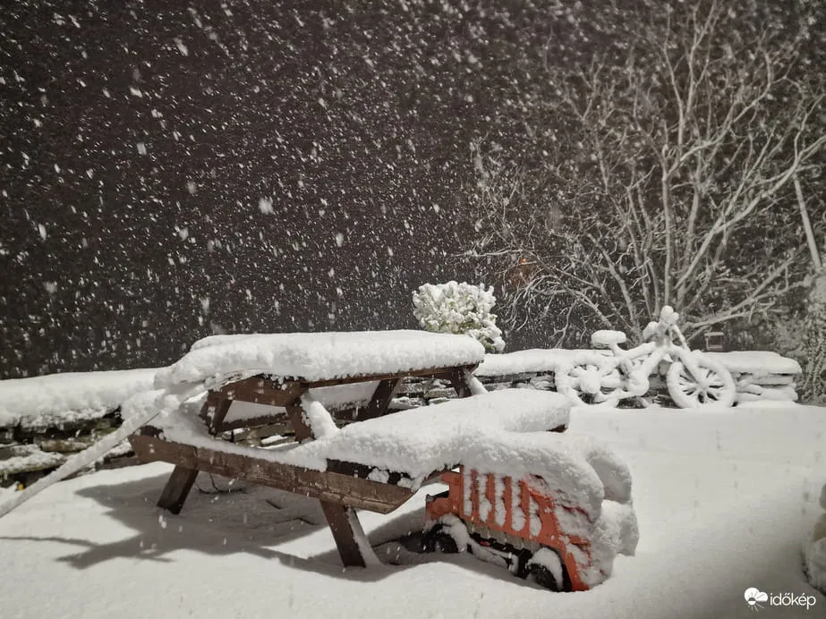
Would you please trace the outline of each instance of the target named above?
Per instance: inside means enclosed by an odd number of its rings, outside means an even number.
[[[620,400],[643,396],[651,386],[651,374],[661,361],[670,361],[668,394],[677,406],[731,406],[737,395],[734,378],[720,363],[692,351],[677,320],[679,314],[668,305],[660,311],[660,321],[650,322],[643,331],[645,342],[629,350],[621,331],[595,331],[595,348],[580,351],[557,371],[557,391],[579,404],[616,406]]]

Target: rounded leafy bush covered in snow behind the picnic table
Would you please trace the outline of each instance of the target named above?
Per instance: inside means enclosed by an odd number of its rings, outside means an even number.
[[[505,341],[496,326],[493,286],[462,282],[424,284],[413,293],[413,315],[434,333],[465,334],[475,338],[488,352],[502,352]]]

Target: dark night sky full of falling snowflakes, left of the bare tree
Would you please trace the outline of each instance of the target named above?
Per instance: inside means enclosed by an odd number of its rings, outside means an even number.
[[[415,287],[472,276],[470,142],[547,30],[456,4],[4,8],[0,377],[413,327]]]

